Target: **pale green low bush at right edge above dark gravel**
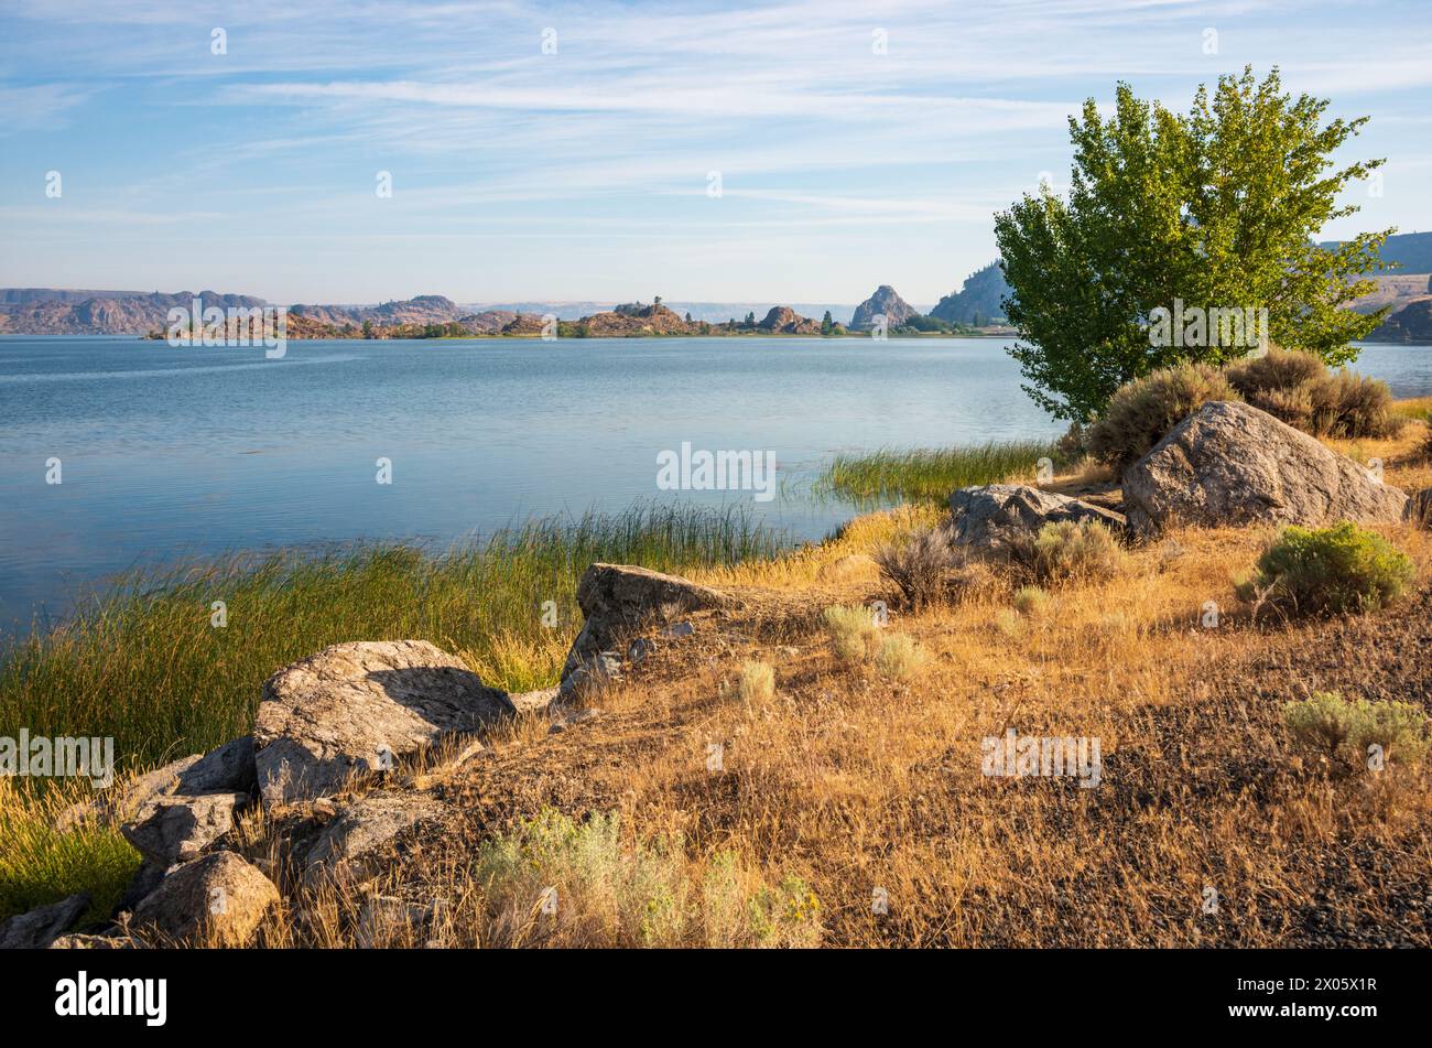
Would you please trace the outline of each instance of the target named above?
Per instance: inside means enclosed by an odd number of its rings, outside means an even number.
[[[1336,692],[1315,692],[1312,699],[1287,703],[1283,720],[1300,746],[1355,766],[1366,766],[1370,746],[1379,746],[1389,762],[1409,765],[1428,753],[1428,716],[1412,703],[1348,702]]]

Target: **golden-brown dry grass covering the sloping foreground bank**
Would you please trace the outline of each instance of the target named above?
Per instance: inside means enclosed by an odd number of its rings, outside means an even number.
[[[1411,455],[1421,438],[1409,425],[1365,444],[1416,488],[1432,481]],[[816,584],[821,567],[937,518],[881,514],[816,550],[699,573],[745,608],[693,616],[601,716],[560,734],[533,720],[491,757],[430,770],[420,785],[451,816],[407,835],[365,891],[294,889],[262,941],[1432,945],[1432,770],[1345,775],[1285,722],[1316,692],[1432,710],[1432,535],[1379,528],[1419,591],[1369,616],[1254,623],[1234,580],[1272,530],[1184,531],[1128,551],[1117,577],[1042,598],[1004,578],[892,616],[918,673],[842,660],[825,608],[892,594]],[[1210,601],[1216,629],[1200,624]],[[742,687],[750,663],[779,690]],[[984,776],[982,740],[1011,727],[1098,739],[1100,785]],[[530,872],[504,865],[551,812],[557,838],[594,842],[586,865],[561,848]],[[295,823],[251,819],[248,853],[285,869]],[[550,885],[570,912],[541,912]]]

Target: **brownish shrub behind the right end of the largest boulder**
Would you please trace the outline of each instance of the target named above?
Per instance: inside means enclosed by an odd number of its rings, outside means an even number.
[[[1350,371],[1329,371],[1300,349],[1270,348],[1227,367],[1229,384],[1244,401],[1315,437],[1392,437],[1403,418],[1386,382]]]

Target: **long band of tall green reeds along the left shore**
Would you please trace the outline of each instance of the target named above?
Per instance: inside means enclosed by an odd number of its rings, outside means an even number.
[[[528,690],[557,680],[593,561],[682,571],[782,548],[740,508],[637,505],[534,520],[432,555],[379,545],[130,574],[63,627],[0,651],[0,724],[113,736],[120,770],[147,767],[248,733],[275,670],[351,640],[428,640],[487,683]],[[223,627],[211,626],[219,600]],[[541,624],[547,600],[557,629]]]

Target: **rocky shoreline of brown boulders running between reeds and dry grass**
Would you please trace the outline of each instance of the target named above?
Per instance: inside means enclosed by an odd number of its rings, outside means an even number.
[[[1210,402],[1127,470],[1121,490],[964,488],[942,527],[969,557],[998,564],[1061,521],[1097,521],[1130,545],[1147,545],[1190,527],[1219,534],[1350,520],[1425,528],[1426,500],[1426,491],[1409,500],[1256,408]],[[851,560],[822,570],[816,607],[821,586],[869,586],[871,574],[846,570]],[[800,593],[713,587],[619,564],[591,564],[577,597],[583,626],[561,680],[538,692],[490,687],[461,659],[417,640],[334,644],[279,669],[263,686],[252,734],[132,779],[57,820],[62,832],[115,825],[143,856],[112,921],[70,932],[89,906],[77,893],[6,921],[0,946],[242,946],[285,899],[329,889],[365,899],[359,943],[375,945],[378,929],[394,922],[425,925],[441,901],[390,893],[394,878],[404,878],[395,848],[461,816],[458,795],[434,785],[494,762],[494,732],[540,726],[580,749],[583,733],[603,723],[604,697],[629,677],[644,680],[653,664],[674,666],[667,660],[680,653],[680,673],[702,673],[693,667],[723,657],[733,641],[790,629],[800,636],[809,631],[800,623],[818,617]],[[1126,760],[1118,757],[1116,775]],[[484,803],[500,806],[503,797]],[[284,863],[253,848],[255,832],[279,830]],[[388,888],[365,889],[379,875]]]

